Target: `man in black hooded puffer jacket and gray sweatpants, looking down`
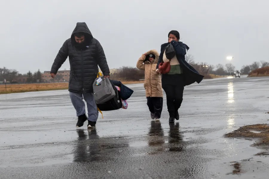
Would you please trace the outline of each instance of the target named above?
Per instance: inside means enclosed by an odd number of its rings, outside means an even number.
[[[91,35],[85,22],[78,22],[71,38],[67,39],[60,48],[51,67],[51,77],[56,76],[57,71],[69,56],[70,80],[68,91],[71,102],[77,111],[77,127],[83,126],[88,119],[88,128],[94,128],[98,110],[92,94],[98,65],[105,78],[109,78],[109,68],[103,47],[99,41]],[[88,108],[88,118],[85,114],[85,103]]]

